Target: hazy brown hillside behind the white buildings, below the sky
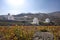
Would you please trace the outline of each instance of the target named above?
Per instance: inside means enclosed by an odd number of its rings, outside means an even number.
[[[1,15],[0,19],[6,20],[4,17],[6,15]],[[46,18],[49,18],[51,22],[56,23],[57,25],[60,25],[60,11],[51,12],[51,13],[21,13],[17,15],[13,15],[14,18],[18,21],[28,21],[32,22],[34,17],[37,17],[40,22],[45,21]]]

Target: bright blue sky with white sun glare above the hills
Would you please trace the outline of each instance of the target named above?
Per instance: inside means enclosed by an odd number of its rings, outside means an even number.
[[[0,15],[60,11],[60,0],[0,0]]]

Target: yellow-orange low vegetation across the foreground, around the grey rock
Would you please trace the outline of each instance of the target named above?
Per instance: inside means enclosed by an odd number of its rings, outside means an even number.
[[[0,26],[0,40],[32,40],[36,31],[47,30],[60,39],[60,26]]]

